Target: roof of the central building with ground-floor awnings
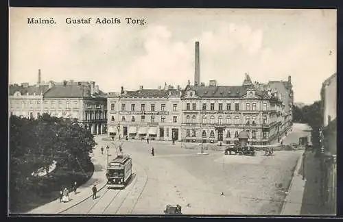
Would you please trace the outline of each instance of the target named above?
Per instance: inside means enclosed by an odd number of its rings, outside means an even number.
[[[135,91],[126,91],[125,94],[122,94],[123,98],[167,98],[169,97],[169,91],[177,92],[178,90],[158,90],[158,89],[143,89]]]

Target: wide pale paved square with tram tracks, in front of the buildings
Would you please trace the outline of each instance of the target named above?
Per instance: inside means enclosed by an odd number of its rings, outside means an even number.
[[[294,125],[291,139],[285,140],[296,143],[301,130]],[[113,142],[97,143],[109,144],[110,158],[115,156]],[[124,190],[104,188],[97,199],[88,198],[63,213],[163,214],[167,204],[180,204],[183,214],[279,214],[301,155],[300,151],[275,151],[274,156],[261,152],[255,157],[224,156],[208,151],[209,155],[200,156],[180,143],[140,140],[124,142],[123,151],[133,160],[130,184]]]

